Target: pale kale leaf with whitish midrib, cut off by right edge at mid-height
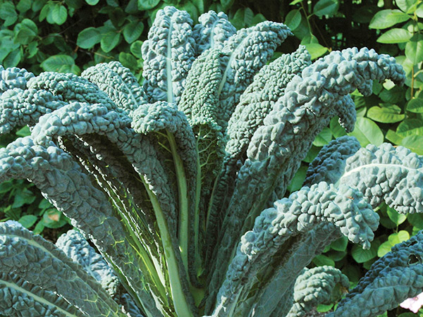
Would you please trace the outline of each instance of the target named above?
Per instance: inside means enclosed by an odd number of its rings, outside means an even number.
[[[423,212],[423,158],[405,147],[369,144],[346,161],[338,183],[360,190],[374,208],[384,200],[400,213]]]

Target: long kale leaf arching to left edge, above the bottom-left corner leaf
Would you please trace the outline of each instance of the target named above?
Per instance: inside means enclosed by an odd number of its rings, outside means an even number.
[[[0,149],[0,162],[0,181],[27,178],[37,185],[44,197],[94,242],[145,311],[160,316],[153,299],[153,294],[159,297],[159,291],[148,275],[140,273],[144,265],[125,237],[108,199],[70,155],[52,143],[42,147],[31,137],[24,137]]]

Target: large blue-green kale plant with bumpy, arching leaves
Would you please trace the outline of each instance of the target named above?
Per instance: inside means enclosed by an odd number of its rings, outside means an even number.
[[[31,135],[0,149],[0,181],[31,180],[78,230],[54,245],[0,224],[0,313],[302,316],[341,294],[340,271],[305,267],[342,235],[368,248],[382,201],[422,212],[423,157],[341,137],[283,198],[333,116],[354,129],[351,92],[405,80],[369,49],[311,63],[300,46],[268,63],[290,35],[166,7],[142,45],[142,87],[118,62],[80,77],[1,68],[0,131]],[[375,316],[422,292],[422,251],[423,233],[395,247],[331,315]]]

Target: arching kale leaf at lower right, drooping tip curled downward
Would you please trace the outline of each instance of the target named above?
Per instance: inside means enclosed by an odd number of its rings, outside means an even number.
[[[326,182],[302,187],[290,197],[275,201],[274,208],[262,211],[254,228],[241,237],[217,294],[214,316],[226,316],[223,311],[235,309],[240,292],[251,287],[257,273],[271,263],[271,257],[285,247],[288,238],[308,232],[322,221],[336,225],[350,241],[369,248],[379,216],[357,190],[346,185],[336,188]]]

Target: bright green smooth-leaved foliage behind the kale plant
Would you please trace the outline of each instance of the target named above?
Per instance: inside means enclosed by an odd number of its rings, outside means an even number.
[[[168,5],[188,11],[194,20],[209,10],[224,11],[238,29],[263,20],[286,23],[295,36],[279,48],[279,54],[304,44],[313,59],[352,46],[396,56],[407,73],[405,86],[384,82],[374,85],[371,97],[353,94],[357,125],[350,135],[363,147],[392,142],[423,154],[422,0],[0,0],[0,64],[36,75],[42,71],[79,75],[94,64],[118,60],[140,78],[142,41],[157,11]],[[290,191],[301,187],[307,165],[319,149],[345,135],[334,119],[315,139]],[[15,131],[2,137],[0,145],[28,134],[27,128]],[[0,200],[1,220],[18,220],[51,240],[69,228],[68,220],[27,182],[1,184]],[[381,226],[371,249],[362,250],[341,238],[314,259],[314,265],[342,268],[354,284],[394,244],[423,229],[421,215],[399,215],[386,205],[377,212]]]

